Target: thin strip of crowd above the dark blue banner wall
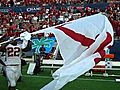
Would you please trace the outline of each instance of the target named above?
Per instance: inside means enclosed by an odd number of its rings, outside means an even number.
[[[46,4],[77,4],[77,3],[97,3],[107,2],[109,0],[1,0],[0,6],[13,7],[13,6],[29,6],[29,5],[46,5]]]

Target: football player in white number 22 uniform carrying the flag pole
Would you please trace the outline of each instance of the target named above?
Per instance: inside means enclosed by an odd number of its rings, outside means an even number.
[[[21,76],[21,55],[22,51],[31,49],[30,40],[10,40],[1,46],[1,51],[5,51],[5,73],[8,80],[8,90],[16,89],[16,82]]]

